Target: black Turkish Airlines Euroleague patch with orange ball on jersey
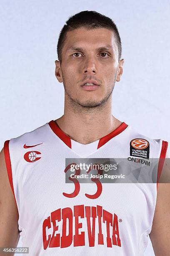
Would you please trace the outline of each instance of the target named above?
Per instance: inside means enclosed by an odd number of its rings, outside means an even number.
[[[135,138],[130,141],[130,156],[149,159],[149,142],[143,138]]]

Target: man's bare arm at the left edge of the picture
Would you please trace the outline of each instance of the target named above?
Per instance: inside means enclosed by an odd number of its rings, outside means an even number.
[[[0,152],[0,247],[16,247],[19,241],[18,208],[10,187],[4,150]],[[0,256],[14,253],[0,253]]]

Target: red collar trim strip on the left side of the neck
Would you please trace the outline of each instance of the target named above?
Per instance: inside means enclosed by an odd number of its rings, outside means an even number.
[[[60,127],[57,125],[57,123],[54,120],[51,120],[49,123],[50,128],[52,131],[69,147],[71,148],[71,139],[67,134],[65,134]]]

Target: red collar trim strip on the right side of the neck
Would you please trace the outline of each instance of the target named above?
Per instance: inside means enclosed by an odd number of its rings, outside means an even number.
[[[103,146],[105,143],[107,143],[107,141],[110,141],[110,139],[112,139],[113,137],[122,133],[122,131],[124,131],[127,127],[128,127],[128,125],[125,122],[123,122],[114,131],[112,131],[111,133],[107,134],[106,136],[100,138],[97,149],[100,148],[101,146]]]

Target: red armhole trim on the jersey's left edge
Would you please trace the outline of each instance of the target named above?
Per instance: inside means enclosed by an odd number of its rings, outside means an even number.
[[[9,143],[10,143],[10,141],[4,142],[4,156],[5,156],[5,162],[6,162],[6,167],[7,167],[7,176],[8,176],[10,186],[13,191],[14,198],[15,198],[14,187],[13,187],[12,167],[11,167],[11,161],[10,161]],[[15,198],[15,202],[16,202],[16,198]],[[17,205],[17,202],[16,202],[16,205]]]

